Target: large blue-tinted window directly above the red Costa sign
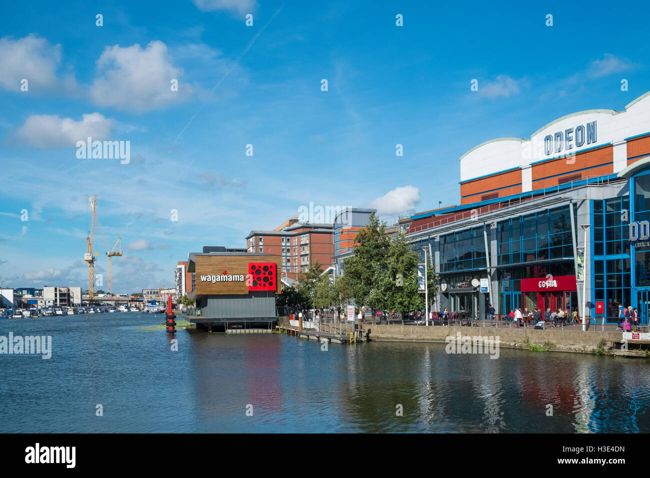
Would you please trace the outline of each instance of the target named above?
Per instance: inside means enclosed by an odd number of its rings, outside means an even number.
[[[497,265],[573,258],[569,206],[497,223]]]

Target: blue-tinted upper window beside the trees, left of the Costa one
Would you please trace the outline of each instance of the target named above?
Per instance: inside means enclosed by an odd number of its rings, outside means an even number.
[[[467,271],[487,267],[482,226],[442,235],[440,248],[440,272]]]

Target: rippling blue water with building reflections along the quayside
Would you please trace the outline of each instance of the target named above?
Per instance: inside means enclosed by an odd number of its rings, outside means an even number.
[[[190,330],[172,352],[163,330],[137,330],[162,320],[0,321],[0,335],[53,340],[49,360],[0,355],[0,432],[650,431],[645,359],[500,349],[493,360],[404,342],[325,352],[280,334]]]

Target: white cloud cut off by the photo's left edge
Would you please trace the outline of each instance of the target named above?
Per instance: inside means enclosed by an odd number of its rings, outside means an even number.
[[[29,34],[14,40],[0,38],[0,86],[20,91],[21,79],[29,82],[29,91],[54,88],[61,62],[61,46],[50,45],[45,38]]]

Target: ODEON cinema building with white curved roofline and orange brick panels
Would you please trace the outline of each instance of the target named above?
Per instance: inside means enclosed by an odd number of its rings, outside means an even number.
[[[432,310],[482,318],[491,303],[582,317],[584,303],[588,319],[615,323],[622,304],[648,323],[650,92],[623,111],[479,144],[460,158],[460,179],[460,206],[400,221],[434,259]]]

